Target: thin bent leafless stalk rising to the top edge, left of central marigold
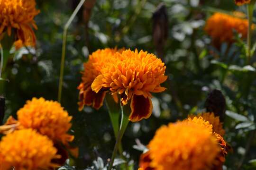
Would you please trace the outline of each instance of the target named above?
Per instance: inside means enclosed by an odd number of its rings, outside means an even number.
[[[61,68],[60,68],[60,80],[59,80],[59,91],[58,91],[58,102],[61,102],[61,93],[62,93],[62,86],[63,86],[63,75],[64,75],[64,62],[65,62],[65,52],[66,52],[66,40],[67,40],[67,30],[70,24],[72,23],[74,17],[82,7],[82,4],[85,0],[80,0],[79,4],[75,8],[73,14],[69,18],[68,22],[64,26],[63,31],[63,43],[62,43],[62,55],[61,55]]]

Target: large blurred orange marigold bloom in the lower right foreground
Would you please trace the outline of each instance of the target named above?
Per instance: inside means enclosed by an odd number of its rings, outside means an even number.
[[[209,129],[190,121],[160,127],[148,148],[155,170],[210,170],[220,152]]]

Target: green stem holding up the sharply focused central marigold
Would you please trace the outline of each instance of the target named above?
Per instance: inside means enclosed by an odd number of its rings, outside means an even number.
[[[112,157],[111,157],[111,160],[110,160],[110,165],[109,165],[108,170],[112,169],[112,166],[113,166],[113,163],[114,163],[114,160],[115,160],[115,157],[116,157],[119,145],[121,144],[122,137],[123,137],[123,135],[125,133],[125,130],[126,130],[127,126],[128,126],[128,123],[129,123],[129,119],[128,119],[129,113],[130,113],[130,106],[129,106],[129,104],[127,104],[125,106],[121,106],[121,110],[122,110],[121,125],[120,125],[120,129],[119,129],[119,133],[118,133],[118,138],[117,138],[117,141],[116,141],[113,153],[112,153]]]

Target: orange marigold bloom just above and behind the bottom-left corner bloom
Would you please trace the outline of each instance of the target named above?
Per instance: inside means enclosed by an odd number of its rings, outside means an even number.
[[[17,115],[19,128],[36,129],[54,142],[66,144],[73,140],[73,136],[67,134],[72,126],[72,116],[58,102],[46,101],[42,97],[33,98],[18,110]]]

